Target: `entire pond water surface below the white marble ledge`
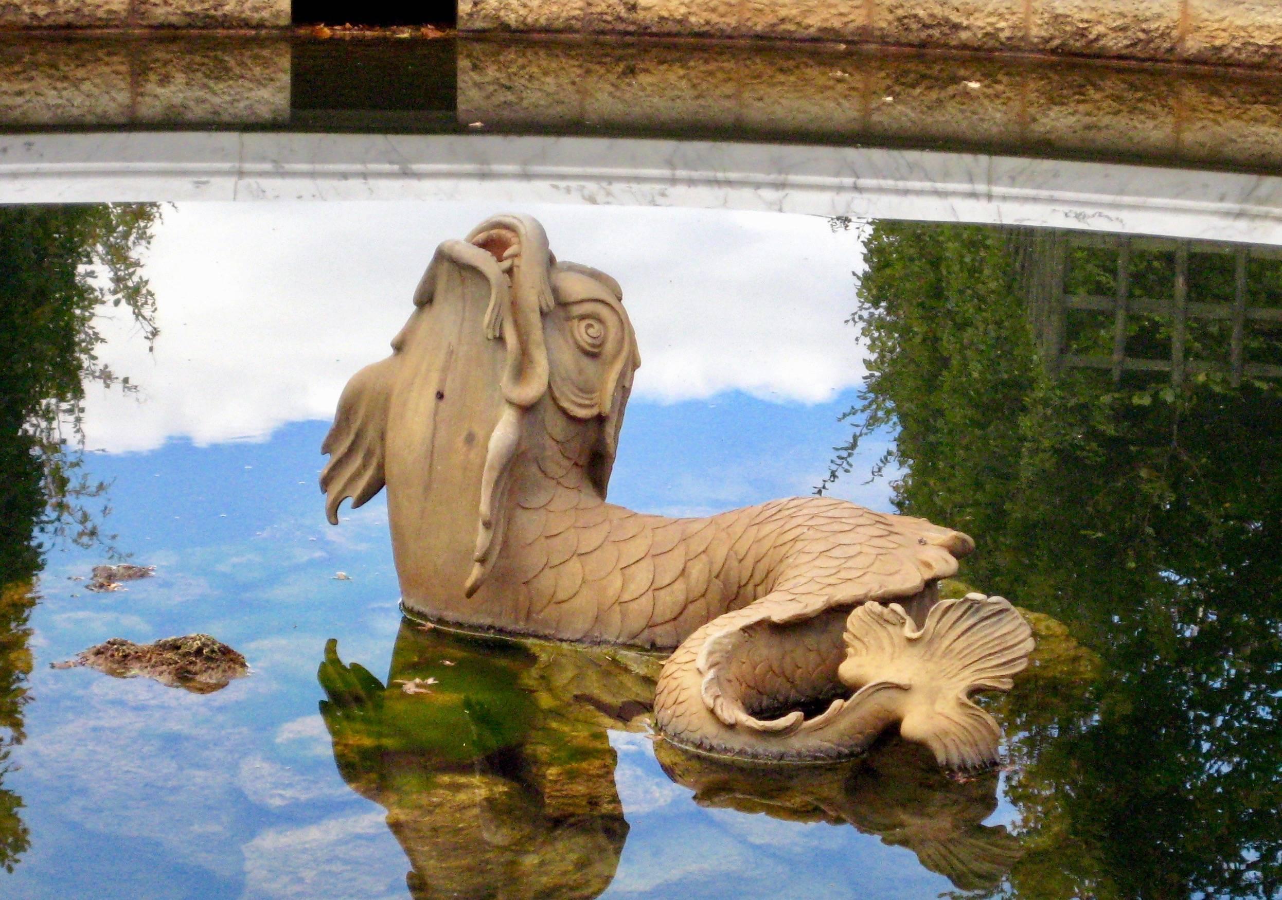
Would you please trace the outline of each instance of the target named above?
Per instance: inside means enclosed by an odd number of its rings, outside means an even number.
[[[1010,597],[1038,649],[983,700],[1004,764],[962,777],[895,737],[692,756],[651,732],[662,656],[401,615],[386,501],[328,526],[319,447],[436,244],[494,212],[0,209],[0,894],[1282,896],[1272,232],[522,209],[624,288],[613,503],[823,490],[977,538],[949,590]],[[78,254],[140,228],[113,305]],[[88,590],[122,559],[155,573]],[[249,677],[50,667],[194,632]]]

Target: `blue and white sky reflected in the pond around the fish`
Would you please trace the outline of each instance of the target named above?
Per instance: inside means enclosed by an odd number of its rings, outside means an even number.
[[[383,810],[340,777],[317,701],[324,641],[383,677],[399,627],[382,497],[324,523],[319,444],[337,394],[382,356],[456,205],[182,206],[147,260],[162,337],[121,326],[103,358],[141,400],[91,396],[106,529],[156,577],[87,594],[100,551],[59,547],[35,615],[21,768],[31,849],[13,896],[405,895]],[[612,483],[627,506],[703,513],[805,494],[849,435],[863,369],[842,326],[855,232],[817,218],[533,210],[565,259],[624,286],[645,360]],[[869,444],[867,469],[885,445]],[[885,508],[883,483],[847,496]],[[336,581],[336,572],[351,581]],[[199,696],[47,663],[112,636],[209,632],[253,677]],[[850,826],[703,809],[649,741],[612,733],[631,831],[612,895],[935,895],[909,850]],[[1004,815],[999,812],[997,819]],[[74,864],[68,864],[74,860]]]

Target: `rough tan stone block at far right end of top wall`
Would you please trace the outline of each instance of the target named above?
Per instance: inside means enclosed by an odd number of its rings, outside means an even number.
[[[1282,8],[1277,0],[1188,0],[1183,56],[1282,65]]]

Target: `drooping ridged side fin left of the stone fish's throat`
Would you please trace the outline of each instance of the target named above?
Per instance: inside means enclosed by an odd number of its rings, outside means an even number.
[[[320,453],[329,454],[320,472],[329,524],[338,524],[338,504],[345,499],[351,497],[355,509],[383,490],[383,432],[397,362],[391,356],[367,365],[342,388],[333,427],[320,445]]]

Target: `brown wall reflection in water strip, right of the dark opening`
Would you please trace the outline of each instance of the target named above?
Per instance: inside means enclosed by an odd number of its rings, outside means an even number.
[[[1277,76],[1101,60],[462,41],[459,108],[496,126],[1282,165]]]

